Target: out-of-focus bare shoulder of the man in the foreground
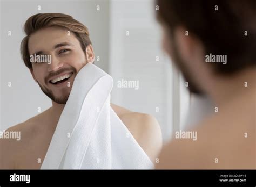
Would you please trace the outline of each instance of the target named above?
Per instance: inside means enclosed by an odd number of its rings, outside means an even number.
[[[233,105],[221,111],[191,131],[197,133],[196,141],[185,135],[167,143],[156,169],[255,169],[253,112],[241,113]]]

